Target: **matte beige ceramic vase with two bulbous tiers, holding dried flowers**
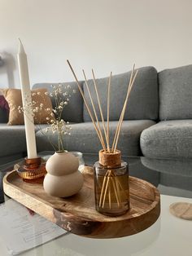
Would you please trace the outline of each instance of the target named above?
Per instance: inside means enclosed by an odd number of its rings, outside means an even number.
[[[50,196],[75,195],[83,186],[83,175],[78,170],[79,160],[70,152],[55,152],[46,161],[43,188]]]

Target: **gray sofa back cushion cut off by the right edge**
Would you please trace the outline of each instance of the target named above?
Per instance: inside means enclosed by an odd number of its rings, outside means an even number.
[[[159,73],[159,119],[192,118],[192,65]]]

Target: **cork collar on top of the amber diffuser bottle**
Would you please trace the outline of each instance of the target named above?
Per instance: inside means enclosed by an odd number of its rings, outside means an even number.
[[[116,149],[115,153],[105,152],[103,149],[98,152],[99,164],[108,168],[121,166],[121,152]]]

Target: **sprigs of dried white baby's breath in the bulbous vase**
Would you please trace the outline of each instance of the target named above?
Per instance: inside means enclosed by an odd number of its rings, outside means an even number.
[[[63,109],[68,105],[69,97],[75,94],[76,90],[71,92],[72,87],[70,85],[63,86],[62,84],[52,85],[51,89],[52,91],[50,93],[45,92],[45,95],[50,97],[52,102],[55,102],[54,108],[44,108],[43,103],[37,103],[33,100],[32,104],[27,104],[24,107],[19,106],[18,112],[32,113],[33,117],[35,117],[35,113],[46,111],[46,121],[49,126],[45,130],[42,130],[41,126],[39,126],[39,129],[43,135],[46,135],[55,151],[64,152],[63,136],[71,135],[70,130],[72,127],[69,126],[68,121],[63,120],[62,113]],[[41,95],[41,92],[33,92],[32,95]],[[25,102],[28,102],[28,100],[25,100]],[[57,135],[57,144],[54,142],[53,135]]]

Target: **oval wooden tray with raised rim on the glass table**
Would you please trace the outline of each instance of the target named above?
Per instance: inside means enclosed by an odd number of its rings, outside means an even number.
[[[85,167],[84,186],[75,196],[49,196],[39,183],[25,183],[16,171],[3,179],[4,192],[15,201],[76,235],[92,238],[130,236],[150,227],[160,214],[159,191],[142,179],[130,177],[128,213],[107,217],[94,208],[93,170]]]

